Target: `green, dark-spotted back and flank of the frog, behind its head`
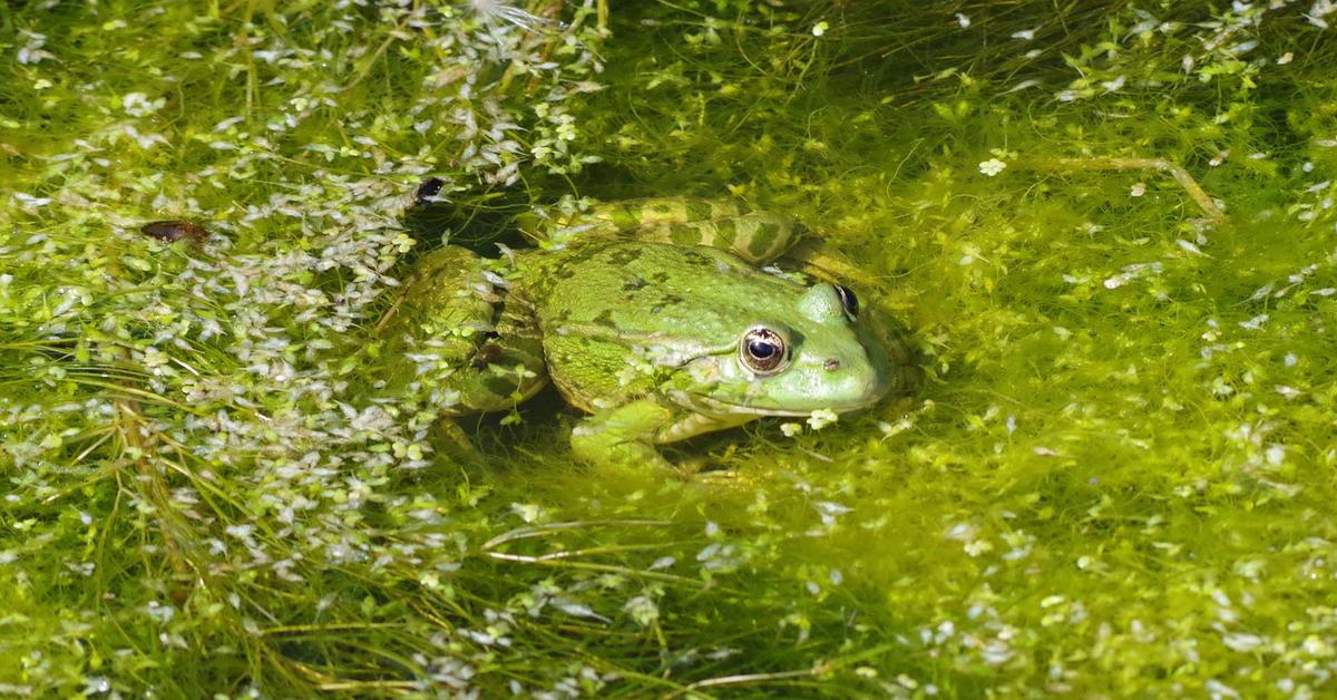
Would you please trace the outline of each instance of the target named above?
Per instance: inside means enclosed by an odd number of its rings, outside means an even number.
[[[729,352],[804,289],[714,248],[619,238],[543,252],[523,269],[554,383],[586,411],[651,391],[636,363]]]

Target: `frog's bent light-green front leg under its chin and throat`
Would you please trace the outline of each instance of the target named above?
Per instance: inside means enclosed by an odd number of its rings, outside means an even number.
[[[582,420],[571,431],[571,452],[596,467],[683,471],[654,446],[739,426],[753,418],[715,418],[642,399],[606,408]]]

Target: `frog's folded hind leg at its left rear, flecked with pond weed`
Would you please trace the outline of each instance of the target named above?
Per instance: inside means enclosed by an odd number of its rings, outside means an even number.
[[[425,392],[448,415],[512,408],[547,384],[527,304],[492,261],[463,248],[428,254],[378,324],[392,391]]]

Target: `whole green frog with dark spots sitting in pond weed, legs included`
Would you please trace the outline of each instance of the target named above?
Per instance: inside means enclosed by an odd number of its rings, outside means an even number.
[[[786,217],[662,198],[533,229],[541,248],[495,261],[428,254],[392,311],[390,352],[412,348],[448,415],[512,410],[552,381],[590,414],[579,459],[668,467],[655,444],[866,408],[912,381],[853,292],[758,269],[796,242]]]

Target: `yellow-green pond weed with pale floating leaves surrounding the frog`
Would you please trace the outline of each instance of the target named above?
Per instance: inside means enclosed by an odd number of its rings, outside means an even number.
[[[1330,693],[1329,23],[0,5],[0,693]],[[804,220],[925,387],[699,480],[381,391],[420,250],[658,194]]]

